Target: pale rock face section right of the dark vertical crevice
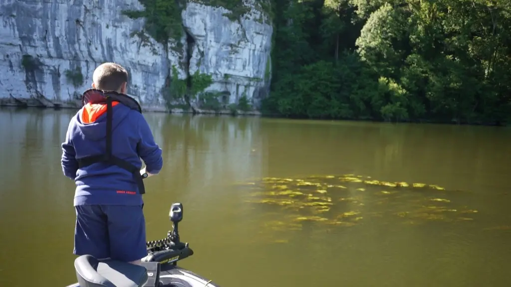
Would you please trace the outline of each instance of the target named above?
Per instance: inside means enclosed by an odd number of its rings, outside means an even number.
[[[213,76],[206,91],[222,94],[222,101],[236,103],[240,97],[257,106],[268,92],[272,27],[253,9],[231,21],[223,8],[190,3],[182,13],[183,26],[195,42],[190,74],[196,70]]]

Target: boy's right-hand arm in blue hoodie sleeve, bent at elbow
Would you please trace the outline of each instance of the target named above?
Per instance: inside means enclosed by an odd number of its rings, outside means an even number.
[[[161,149],[154,142],[151,128],[146,122],[143,115],[138,117],[138,134],[140,141],[138,142],[138,156],[144,160],[146,168],[141,174],[147,172],[148,176],[158,174],[163,167],[163,158],[161,157]]]

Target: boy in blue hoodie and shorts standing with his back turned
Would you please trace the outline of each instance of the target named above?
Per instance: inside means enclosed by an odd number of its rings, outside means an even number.
[[[126,94],[128,73],[118,64],[104,63],[92,81],[93,89]],[[114,100],[111,114],[111,155],[135,166],[135,173],[142,158],[146,168],[140,175],[157,174],[163,165],[161,149],[142,113]],[[74,254],[140,264],[147,255],[146,228],[136,179],[109,162],[81,164],[88,156],[107,152],[107,127],[107,105],[87,103],[71,119],[62,143],[62,171],[76,183]]]

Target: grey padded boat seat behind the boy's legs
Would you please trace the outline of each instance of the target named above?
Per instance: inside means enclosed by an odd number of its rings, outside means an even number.
[[[76,258],[75,270],[80,287],[142,287],[147,281],[143,266],[91,255]]]

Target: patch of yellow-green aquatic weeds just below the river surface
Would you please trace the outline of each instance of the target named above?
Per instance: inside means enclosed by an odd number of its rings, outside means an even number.
[[[471,221],[469,214],[477,213],[452,206],[448,197],[454,190],[354,174],[266,177],[242,185],[247,187],[247,203],[280,209],[282,220],[272,230],[297,230],[309,223],[356,226],[366,219],[383,217],[405,224]]]

